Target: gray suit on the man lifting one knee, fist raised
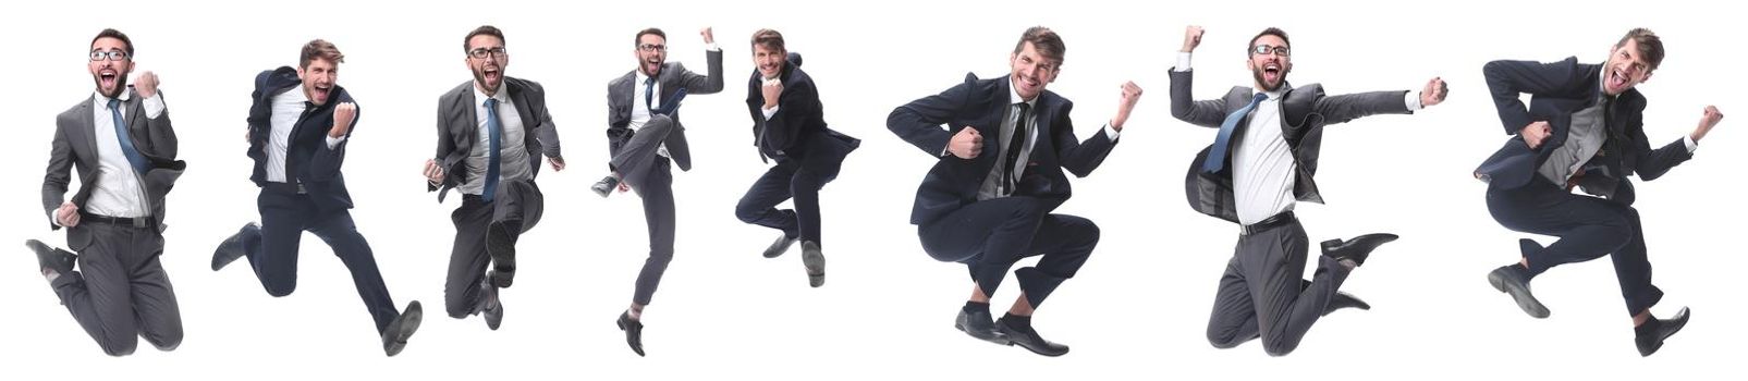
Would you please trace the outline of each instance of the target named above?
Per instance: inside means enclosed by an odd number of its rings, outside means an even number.
[[[680,89],[690,94],[720,93],[722,51],[706,51],[704,56],[710,61],[710,75],[685,70],[680,63],[664,63],[656,73],[656,82],[661,86],[661,94],[656,100],[669,101],[669,96]],[[682,171],[692,170],[692,152],[685,143],[685,128],[680,126],[678,105],[659,105],[657,108],[671,112],[650,115],[643,128],[631,131],[631,108],[636,107],[636,101],[643,101],[635,100],[636,86],[643,86],[636,79],[638,73],[629,72],[607,84],[607,149],[612,152],[608,166],[643,197],[650,257],[643,260],[631,301],[649,304],[662,273],[668,271],[668,262],[673,260],[675,239],[673,173],[668,170],[668,159],[657,156],[657,150],[666,145],[673,164],[680,166]]]

